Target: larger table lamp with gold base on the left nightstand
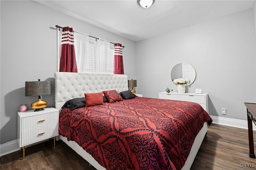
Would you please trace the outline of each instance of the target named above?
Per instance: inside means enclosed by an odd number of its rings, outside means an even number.
[[[25,96],[38,96],[38,100],[31,103],[31,108],[34,111],[43,111],[47,106],[47,101],[41,99],[42,95],[52,94],[52,82],[51,81],[26,81],[25,82]]]

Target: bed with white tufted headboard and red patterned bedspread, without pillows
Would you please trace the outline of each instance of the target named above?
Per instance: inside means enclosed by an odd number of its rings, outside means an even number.
[[[54,76],[59,138],[94,168],[190,169],[212,122],[200,105],[133,97],[71,111],[62,109],[66,101],[85,93],[103,91],[108,97],[109,91],[128,91],[128,77],[67,72]]]

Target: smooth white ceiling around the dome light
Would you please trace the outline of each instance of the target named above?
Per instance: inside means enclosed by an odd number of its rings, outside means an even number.
[[[134,42],[253,8],[255,0],[33,0]]]

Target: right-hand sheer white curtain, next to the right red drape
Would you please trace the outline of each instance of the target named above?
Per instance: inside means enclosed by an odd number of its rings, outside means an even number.
[[[96,42],[95,50],[95,73],[109,73],[108,56],[110,55],[110,43],[99,39]],[[113,72],[111,72],[113,73]]]

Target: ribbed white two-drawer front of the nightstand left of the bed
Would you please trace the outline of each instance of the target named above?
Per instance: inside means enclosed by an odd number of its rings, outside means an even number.
[[[21,120],[21,146],[58,135],[58,112],[24,117]]]

